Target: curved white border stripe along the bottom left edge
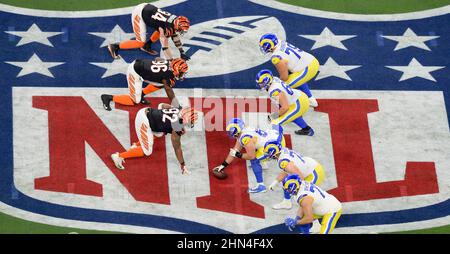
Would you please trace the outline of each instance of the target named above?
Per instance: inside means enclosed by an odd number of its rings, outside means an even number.
[[[61,219],[18,209],[16,207],[9,206],[3,202],[0,202],[0,212],[26,221],[42,223],[57,227],[73,228],[73,232],[76,232],[78,229],[86,229],[97,231],[135,233],[135,234],[180,234],[180,232],[157,228]]]

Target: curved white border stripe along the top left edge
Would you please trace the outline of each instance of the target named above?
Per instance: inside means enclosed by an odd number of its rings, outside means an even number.
[[[159,0],[156,2],[152,2],[152,4],[156,5],[159,8],[164,8],[185,1],[186,0]],[[0,11],[46,18],[92,18],[92,17],[109,17],[109,16],[131,14],[134,7],[135,6],[109,10],[95,10],[95,11],[47,11],[47,10],[16,7],[7,4],[0,4]]]

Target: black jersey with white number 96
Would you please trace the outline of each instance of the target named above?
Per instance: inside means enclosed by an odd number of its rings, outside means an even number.
[[[134,70],[145,82],[157,83],[154,84],[157,87],[163,86],[163,80],[166,80],[169,85],[175,84],[175,76],[167,60],[136,59]]]

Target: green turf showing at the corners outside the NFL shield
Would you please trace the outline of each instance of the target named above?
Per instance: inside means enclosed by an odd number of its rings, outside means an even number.
[[[450,0],[279,0],[280,2],[298,5],[306,8],[359,14],[391,14],[421,11],[450,5]],[[152,0],[0,0],[0,3],[43,10],[83,11],[112,9],[133,6]],[[67,234],[76,232],[80,234],[113,233],[106,231],[82,230],[74,228],[56,227],[41,223],[25,221],[13,216],[0,213],[0,233],[48,233]],[[411,234],[450,234],[450,225],[414,230],[400,233]]]

